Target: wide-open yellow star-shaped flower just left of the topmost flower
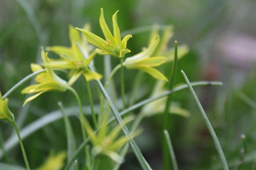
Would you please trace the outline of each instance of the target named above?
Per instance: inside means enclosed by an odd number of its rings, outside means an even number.
[[[89,25],[85,25],[84,29],[88,29]],[[47,51],[52,51],[60,55],[60,59],[51,59],[50,62],[47,62],[47,66],[55,69],[68,69],[71,70],[71,78],[68,81],[68,85],[73,85],[77,78],[81,74],[84,75],[86,81],[98,80],[102,78],[102,75],[96,72],[92,72],[88,69],[89,64],[92,62],[92,59],[96,55],[95,51],[92,50],[92,45],[90,45],[85,38],[81,38],[79,31],[76,30],[73,26],[69,26],[69,39],[71,41],[71,47],[63,46],[53,46],[47,47]],[[80,47],[83,50],[83,53],[87,56],[84,58],[81,51],[77,47],[76,42],[79,43]]]

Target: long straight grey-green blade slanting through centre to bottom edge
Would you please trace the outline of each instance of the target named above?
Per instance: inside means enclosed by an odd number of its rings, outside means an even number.
[[[79,49],[80,49],[81,53],[83,54],[83,56],[86,57],[86,56],[84,55],[84,53],[83,53],[83,50],[80,48],[80,46],[79,46],[78,43],[77,43],[77,46],[79,47]],[[90,65],[89,65],[89,69],[90,69],[92,72],[94,72],[93,69],[92,69],[92,67],[91,67]],[[116,106],[113,104],[113,102],[111,101],[110,97],[108,96],[108,93],[106,92],[104,86],[102,85],[102,83],[100,82],[100,80],[95,80],[95,81],[96,81],[96,84],[98,85],[98,87],[99,87],[101,93],[103,94],[104,98],[105,98],[106,101],[108,102],[108,105],[110,106],[110,109],[111,109],[111,111],[113,112],[113,114],[114,114],[114,116],[115,116],[115,118],[116,118],[116,121],[117,121],[119,124],[123,125],[123,124],[124,124],[123,119],[122,119],[122,117],[120,116],[119,112],[117,111]],[[130,132],[129,132],[128,128],[127,128],[125,125],[122,126],[122,130],[123,130],[125,136],[127,136],[127,137],[129,137],[129,138],[132,138],[132,137],[130,136]],[[143,169],[151,169],[151,167],[148,165],[148,162],[147,162],[146,159],[143,157],[143,155],[142,155],[142,153],[141,153],[141,151],[140,151],[138,145],[137,145],[136,142],[134,141],[134,139],[131,139],[131,140],[129,141],[129,144],[130,144],[130,146],[132,147],[132,150],[133,150],[133,152],[134,152],[136,158],[138,159],[138,161],[139,161],[139,163],[140,163],[140,166],[141,166]]]

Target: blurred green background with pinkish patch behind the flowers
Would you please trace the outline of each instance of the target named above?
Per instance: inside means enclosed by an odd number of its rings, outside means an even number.
[[[26,8],[29,4],[31,8]],[[245,102],[247,98],[256,101],[256,1],[255,0],[1,0],[0,1],[0,90],[7,92],[22,78],[31,73],[30,63],[40,62],[40,47],[70,46],[68,25],[82,27],[89,22],[92,32],[103,36],[100,26],[100,8],[110,30],[112,15],[119,10],[117,19],[120,31],[141,26],[173,25],[174,41],[187,44],[189,53],[178,63],[175,84],[184,83],[180,70],[184,70],[190,81],[218,80],[224,83],[219,87],[197,87],[196,93],[216,130],[224,153],[234,169],[255,169],[256,156],[243,163],[244,148],[241,134],[246,136],[245,155],[256,153],[256,105]],[[25,10],[24,10],[25,9]],[[132,54],[138,53],[148,43],[149,32],[133,35],[127,48]],[[95,67],[103,74],[103,57],[95,58]],[[117,64],[112,60],[112,64]],[[161,68],[168,75],[171,69]],[[125,70],[126,91],[132,87],[133,73]],[[117,78],[117,77],[116,77]],[[147,77],[145,84],[149,89],[155,80]],[[119,78],[116,81],[117,88]],[[28,83],[26,84],[28,85]],[[40,116],[58,109],[57,101],[65,107],[76,104],[73,96],[66,93],[45,93],[31,105],[22,108],[25,95],[18,88],[10,96],[10,108],[20,126],[33,122]],[[88,103],[84,80],[75,84],[84,103]],[[96,85],[92,83],[96,92]],[[53,95],[52,95],[53,94]],[[149,92],[145,95],[147,97]],[[71,97],[72,96],[72,97]],[[95,102],[98,101],[94,96]],[[180,169],[218,169],[220,159],[211,136],[201,118],[194,100],[188,90],[174,95],[173,100],[191,112],[189,118],[170,115],[169,132]],[[137,112],[135,112],[137,113]],[[145,119],[141,126],[144,132],[137,142],[153,169],[161,169],[161,115]],[[23,121],[25,120],[25,121]],[[78,122],[72,117],[74,124]],[[12,127],[0,122],[4,141],[10,137]],[[76,126],[76,125],[75,125]],[[54,122],[36,131],[24,140],[28,160],[32,168],[40,165],[50,150],[61,151],[66,148],[63,121]],[[75,127],[74,127],[75,128]],[[79,128],[77,128],[79,129]],[[77,132],[78,133],[78,132]],[[20,148],[8,152],[3,162],[23,165]],[[245,160],[246,160],[245,159]],[[241,164],[239,166],[239,164]],[[24,165],[23,165],[24,166]],[[129,153],[123,169],[140,169],[133,153]],[[121,169],[122,169],[121,168]]]

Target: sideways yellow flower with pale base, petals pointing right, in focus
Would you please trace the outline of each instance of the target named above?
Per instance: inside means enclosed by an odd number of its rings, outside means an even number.
[[[162,63],[166,62],[167,58],[163,56],[150,57],[154,52],[154,50],[156,49],[156,46],[159,43],[159,40],[160,40],[159,35],[156,35],[152,39],[147,49],[145,49],[144,51],[132,57],[126,58],[123,65],[127,69],[141,70],[141,71],[147,72],[148,74],[150,74],[156,79],[168,81],[168,79],[160,71],[153,68],[155,66],[159,66]]]

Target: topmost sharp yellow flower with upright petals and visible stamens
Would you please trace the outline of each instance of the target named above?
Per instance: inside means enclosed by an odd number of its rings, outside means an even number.
[[[118,11],[116,11],[116,13],[112,17],[113,29],[114,29],[114,36],[113,36],[105,21],[105,18],[103,15],[103,9],[101,8],[100,10],[101,10],[100,27],[105,36],[105,40],[87,30],[80,29],[80,28],[76,28],[76,29],[80,30],[84,34],[88,42],[100,48],[100,49],[96,48],[96,52],[99,55],[114,55],[122,58],[126,53],[131,52],[129,49],[126,48],[126,44],[127,44],[127,41],[132,37],[132,35],[131,34],[126,35],[121,41],[120,30],[117,25]]]

